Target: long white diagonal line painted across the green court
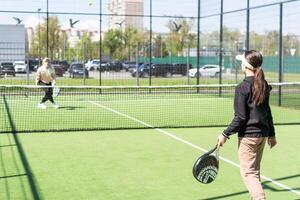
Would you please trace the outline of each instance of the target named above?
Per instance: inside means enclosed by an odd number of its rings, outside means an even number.
[[[140,123],[140,124],[143,124],[143,125],[145,125],[145,126],[147,126],[147,127],[149,127],[149,128],[153,128],[153,127],[154,127],[154,126],[152,126],[152,125],[150,125],[150,124],[147,124],[146,122],[143,122],[143,121],[141,121],[141,120],[139,120],[139,119],[136,119],[136,118],[131,117],[131,116],[127,115],[127,114],[121,113],[121,112],[119,112],[119,111],[117,111],[117,110],[114,110],[114,109],[112,109],[112,108],[106,107],[106,106],[101,105],[101,104],[99,104],[99,103],[96,103],[96,102],[93,102],[93,101],[88,101],[88,102],[91,103],[91,104],[94,104],[94,105],[96,105],[96,106],[98,106],[98,107],[101,107],[101,108],[103,108],[103,109],[109,110],[109,111],[111,111],[111,112],[113,112],[113,113],[116,113],[116,114],[118,114],[118,115],[121,115],[121,116],[123,116],[123,117],[126,117],[126,118],[128,118],[128,119],[131,119],[131,120],[133,120],[133,121],[136,121],[136,122],[138,122],[138,123]],[[201,148],[201,147],[199,147],[199,146],[197,146],[197,145],[195,145],[195,144],[193,144],[193,143],[191,143],[191,142],[188,142],[187,140],[184,140],[184,139],[182,139],[182,138],[180,138],[180,137],[177,137],[176,135],[173,135],[172,133],[169,133],[169,132],[167,132],[167,131],[164,131],[164,130],[162,130],[162,129],[160,129],[160,128],[155,128],[155,130],[158,131],[158,132],[160,132],[160,133],[162,133],[162,134],[164,134],[164,135],[167,135],[167,136],[169,136],[169,137],[171,137],[171,138],[173,138],[173,139],[175,139],[175,140],[177,140],[177,141],[180,141],[180,142],[182,142],[182,143],[184,143],[184,144],[187,144],[187,145],[189,145],[189,146],[191,146],[191,147],[194,147],[195,149],[198,149],[198,150],[200,150],[200,151],[203,151],[203,152],[207,152],[207,151],[208,151],[208,150],[206,150],[206,149],[204,149],[204,148]],[[228,159],[226,159],[226,158],[224,158],[224,157],[222,157],[222,156],[220,156],[220,159],[223,160],[223,161],[225,161],[225,162],[227,162],[227,163],[229,163],[229,164],[231,164],[231,165],[233,165],[233,166],[235,166],[235,167],[240,168],[240,165],[239,165],[239,164],[237,164],[237,163],[235,163],[235,162],[233,162],[233,161],[231,161],[231,160],[228,160]],[[290,191],[290,192],[292,192],[292,193],[295,193],[295,194],[297,194],[297,195],[300,196],[300,192],[298,192],[298,191],[296,191],[296,190],[294,190],[294,189],[292,189],[292,188],[290,188],[290,187],[288,187],[288,186],[286,186],[286,185],[284,185],[284,184],[281,184],[281,183],[279,183],[279,182],[277,182],[277,181],[274,181],[273,179],[268,178],[268,177],[266,177],[266,176],[264,176],[264,175],[261,175],[261,178],[262,178],[262,179],[265,179],[265,180],[267,180],[267,181],[269,181],[269,182],[271,182],[271,183],[273,183],[274,185],[277,185],[277,186],[279,186],[279,187],[281,187],[281,188],[283,188],[283,189],[286,189],[286,190],[288,190],[288,191]]]

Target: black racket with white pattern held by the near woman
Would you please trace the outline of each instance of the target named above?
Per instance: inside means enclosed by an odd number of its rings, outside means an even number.
[[[200,156],[193,167],[193,175],[197,181],[208,184],[215,180],[219,171],[219,150],[212,150]]]

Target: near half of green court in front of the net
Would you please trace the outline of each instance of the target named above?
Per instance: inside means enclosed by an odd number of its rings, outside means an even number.
[[[269,199],[299,199],[300,126],[276,126],[262,174]],[[1,199],[249,199],[239,175],[237,140],[221,149],[216,180],[192,175],[222,128],[1,134]],[[203,149],[202,149],[203,148]]]

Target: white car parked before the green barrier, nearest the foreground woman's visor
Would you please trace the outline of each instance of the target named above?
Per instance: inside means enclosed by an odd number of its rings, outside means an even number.
[[[222,71],[224,67],[222,67]],[[220,74],[220,66],[219,65],[203,65],[199,68],[199,76],[203,77],[218,77]],[[193,68],[189,70],[189,76],[192,78],[197,77],[197,68]]]

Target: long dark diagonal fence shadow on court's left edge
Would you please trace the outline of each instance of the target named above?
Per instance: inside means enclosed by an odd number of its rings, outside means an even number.
[[[22,177],[26,176],[33,199],[40,200],[42,198],[41,198],[41,195],[38,192],[37,182],[36,182],[36,180],[34,178],[34,175],[32,173],[31,167],[29,165],[29,162],[28,162],[28,159],[26,157],[25,151],[22,147],[22,144],[21,144],[21,142],[18,138],[16,126],[15,126],[14,121],[12,119],[11,112],[10,112],[10,109],[9,109],[8,104],[7,104],[5,96],[3,96],[3,101],[4,101],[6,112],[8,114],[7,117],[8,117],[9,124],[11,126],[12,133],[8,134],[8,141],[9,141],[10,144],[1,146],[0,153],[2,154],[2,150],[1,150],[2,148],[10,148],[11,149],[11,155],[12,155],[13,162],[14,162],[14,165],[16,167],[16,170],[17,170],[18,174],[8,174],[7,173],[7,170],[5,168],[5,163],[4,163],[5,161],[3,159],[3,156],[0,155],[0,157],[1,157],[0,158],[1,159],[0,160],[1,161],[1,167],[2,167],[2,170],[3,170],[3,174],[4,174],[4,176],[0,177],[0,180],[4,179],[6,192],[7,192],[6,196],[8,197],[8,199],[11,199],[10,198],[10,193],[14,192],[16,190],[16,188],[10,188],[9,187],[8,179],[19,177],[20,184],[21,184],[21,190],[24,194],[24,198],[27,199],[26,198],[26,191],[25,191],[25,185],[27,185],[27,183],[26,184],[23,183],[23,180],[22,180]],[[11,139],[11,136],[12,136],[12,139]],[[20,170],[20,168],[18,166],[18,163],[17,163],[18,158],[16,158],[15,153],[14,153],[14,148],[16,148],[16,151],[19,154],[19,159],[21,160],[21,163],[22,163],[22,166],[24,168],[25,173],[21,173],[21,170]]]

